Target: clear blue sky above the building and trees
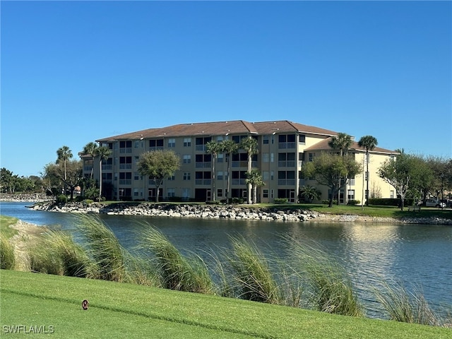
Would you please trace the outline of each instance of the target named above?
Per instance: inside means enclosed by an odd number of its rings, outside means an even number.
[[[451,1],[1,1],[0,166],[235,119],[450,158],[451,46]]]

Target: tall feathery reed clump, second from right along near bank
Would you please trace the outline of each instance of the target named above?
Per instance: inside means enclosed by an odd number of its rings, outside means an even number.
[[[292,238],[286,241],[291,244],[288,257],[295,259],[291,265],[305,285],[311,307],[331,314],[364,316],[352,282],[340,263],[318,247],[301,244]]]

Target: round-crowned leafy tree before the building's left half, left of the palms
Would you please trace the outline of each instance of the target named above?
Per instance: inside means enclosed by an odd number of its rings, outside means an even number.
[[[163,179],[171,177],[180,168],[179,156],[172,150],[152,150],[145,152],[138,160],[138,172],[148,175],[155,182],[155,202],[158,203],[159,188]]]

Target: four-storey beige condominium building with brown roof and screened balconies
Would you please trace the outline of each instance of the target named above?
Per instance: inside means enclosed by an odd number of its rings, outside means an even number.
[[[334,131],[287,120],[237,120],[177,124],[101,138],[97,143],[112,150],[108,160],[102,162],[102,196],[109,200],[153,201],[157,193],[155,182],[153,178],[142,176],[138,172],[140,155],[152,150],[174,150],[180,157],[181,166],[160,186],[160,199],[210,201],[215,196],[215,200],[220,201],[227,198],[227,162],[230,161],[230,197],[244,198],[246,201],[249,194],[245,182],[248,172],[246,150],[232,154],[231,159],[227,159],[227,154],[218,154],[214,176],[213,157],[207,153],[206,144],[209,141],[221,142],[228,139],[239,143],[243,138],[254,138],[258,153],[251,158],[251,168],[261,172],[265,183],[257,189],[258,202],[287,198],[287,201],[296,203],[299,189],[308,184],[321,191],[321,200],[327,199],[330,194],[328,187],[304,179],[302,167],[304,162],[313,160],[322,151],[331,150],[328,141],[337,135]],[[355,160],[364,162],[365,150],[359,148],[355,141],[350,152],[355,155]],[[397,153],[374,148],[370,154],[369,193],[381,198],[393,197],[393,188],[376,173],[384,160]],[[90,157],[82,158],[85,175],[90,175],[93,169],[94,177],[98,178],[98,162],[93,162]],[[347,187],[340,192],[340,202],[362,200],[363,175],[364,171],[347,183]]]

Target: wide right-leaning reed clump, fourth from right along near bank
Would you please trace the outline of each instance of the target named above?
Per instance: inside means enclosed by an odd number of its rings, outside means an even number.
[[[165,235],[149,226],[143,234],[141,249],[148,253],[162,286],[170,290],[212,294],[214,287],[207,265],[193,254],[184,257]]]

